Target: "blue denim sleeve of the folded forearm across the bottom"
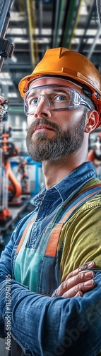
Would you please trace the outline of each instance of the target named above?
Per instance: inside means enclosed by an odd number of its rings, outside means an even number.
[[[95,356],[101,349],[101,271],[96,286],[81,297],[51,298],[11,280],[11,311],[1,282],[1,320],[11,315],[11,335],[33,356]]]

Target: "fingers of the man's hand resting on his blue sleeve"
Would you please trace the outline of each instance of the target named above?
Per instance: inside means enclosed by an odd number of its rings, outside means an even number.
[[[71,298],[80,291],[85,292],[86,290],[93,288],[95,286],[95,281],[92,279],[94,276],[95,273],[93,271],[83,271],[82,273],[78,273],[69,279],[66,278],[66,280],[61,283],[59,288],[57,288],[57,297],[63,296],[65,298]]]

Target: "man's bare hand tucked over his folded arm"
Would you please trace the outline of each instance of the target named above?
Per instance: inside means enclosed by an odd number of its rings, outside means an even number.
[[[74,296],[82,297],[84,292],[95,287],[95,281],[93,281],[95,273],[93,271],[85,270],[95,267],[95,262],[90,261],[69,273],[65,281],[60,284],[59,288],[57,288],[52,296],[62,296],[64,298],[71,298]]]

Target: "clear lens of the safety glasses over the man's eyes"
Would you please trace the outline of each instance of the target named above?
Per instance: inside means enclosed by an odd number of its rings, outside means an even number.
[[[71,110],[88,103],[81,95],[65,85],[40,85],[28,90],[24,98],[25,114],[35,113],[38,105],[44,105],[49,110]]]

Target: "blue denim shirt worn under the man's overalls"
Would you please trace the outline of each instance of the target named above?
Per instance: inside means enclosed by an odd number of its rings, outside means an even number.
[[[38,224],[34,233],[42,234],[47,221],[42,219],[54,214],[54,209],[65,201],[66,197],[72,197],[84,183],[95,177],[93,164],[87,162],[69,174],[51,189],[43,189],[37,197],[32,199],[36,210]],[[15,257],[16,246],[28,224],[29,214],[18,224],[13,232],[11,240],[1,256],[1,304],[0,304],[0,329],[1,336],[5,336],[4,323],[11,315],[11,335],[22,347],[25,355],[56,356],[56,355],[97,355],[101,349],[101,272],[95,276],[97,282],[94,290],[85,293],[83,298],[51,298],[33,293],[21,283],[14,281],[12,260]],[[24,228],[23,228],[24,226]],[[20,232],[21,231],[21,232]],[[28,244],[35,243],[34,234]],[[11,276],[11,310],[6,305],[5,278]]]

